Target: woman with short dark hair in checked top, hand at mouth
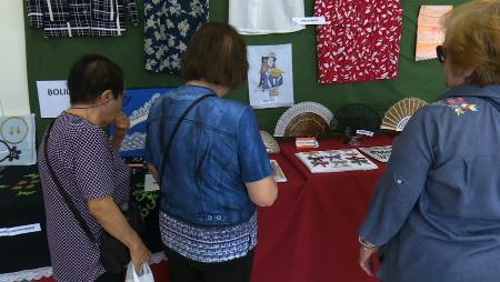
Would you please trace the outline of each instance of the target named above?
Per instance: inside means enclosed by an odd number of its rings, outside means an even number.
[[[71,107],[56,118],[47,142],[40,144],[38,167],[43,189],[47,234],[57,281],[122,282],[123,273],[107,273],[99,246],[74,218],[48,169],[71,198],[93,238],[102,230],[129,248],[136,268],[150,252],[128,224],[120,209],[129,200],[130,172],[118,155],[130,122],[120,108],[123,71],[106,57],[88,54],[71,68],[68,78]],[[113,124],[108,139],[103,128]]]

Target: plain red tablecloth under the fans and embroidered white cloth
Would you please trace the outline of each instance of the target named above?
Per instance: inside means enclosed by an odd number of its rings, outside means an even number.
[[[364,138],[361,147],[390,144],[392,138]],[[320,140],[320,148],[352,148],[343,139]],[[312,174],[294,155],[293,142],[271,155],[288,182],[279,184],[274,205],[259,209],[259,243],[253,282],[370,282],[358,266],[358,228],[368,211],[377,170]],[[310,151],[310,150],[309,150]]]

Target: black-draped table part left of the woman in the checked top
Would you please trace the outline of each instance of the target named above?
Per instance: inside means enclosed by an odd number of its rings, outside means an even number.
[[[31,230],[21,226],[37,225]],[[50,266],[43,195],[37,165],[0,168],[0,273]],[[3,281],[7,280],[6,276]],[[2,281],[2,274],[0,274]]]

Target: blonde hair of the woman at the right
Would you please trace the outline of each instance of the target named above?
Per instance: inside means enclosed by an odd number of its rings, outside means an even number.
[[[474,0],[453,8],[444,28],[443,49],[452,70],[472,70],[472,84],[500,84],[500,0]]]

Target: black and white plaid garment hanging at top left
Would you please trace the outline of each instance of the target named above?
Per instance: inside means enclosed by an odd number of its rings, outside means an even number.
[[[126,10],[139,23],[136,0],[26,0],[30,27],[46,38],[121,36]]]

